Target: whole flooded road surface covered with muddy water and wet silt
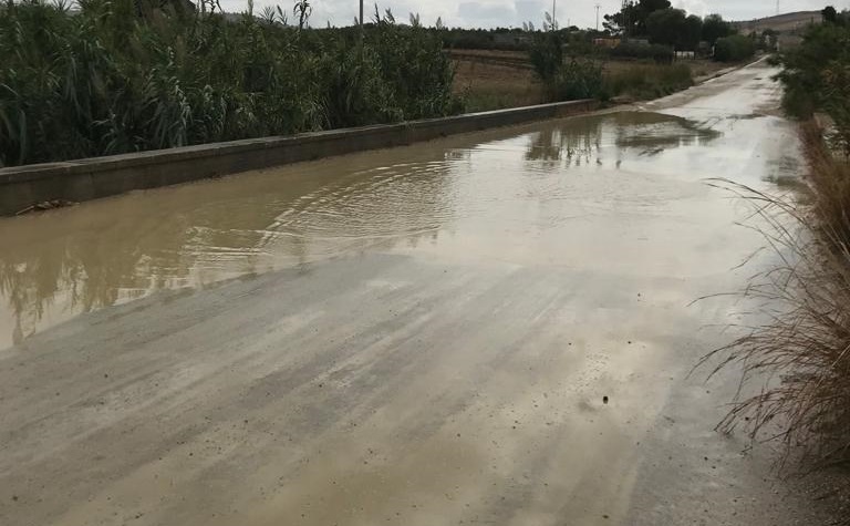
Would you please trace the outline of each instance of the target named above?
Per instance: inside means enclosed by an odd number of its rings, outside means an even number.
[[[0,524],[823,524],[687,377],[773,73],[0,220]]]

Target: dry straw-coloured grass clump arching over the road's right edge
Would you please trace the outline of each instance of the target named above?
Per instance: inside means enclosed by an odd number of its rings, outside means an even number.
[[[732,364],[744,370],[721,429],[743,425],[754,440],[781,440],[784,460],[818,468],[850,464],[850,165],[825,149],[812,125],[804,136],[812,168],[805,207],[724,184],[754,204],[780,262],[743,292],[763,306],[766,321],[702,364],[716,364],[712,375]],[[756,394],[743,394],[754,385]]]

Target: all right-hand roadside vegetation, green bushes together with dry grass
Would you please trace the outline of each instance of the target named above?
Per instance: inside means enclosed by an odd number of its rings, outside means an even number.
[[[777,59],[785,107],[801,120],[809,195],[798,205],[738,188],[781,260],[745,292],[768,306],[767,321],[706,358],[717,370],[743,365],[757,392],[723,425],[780,439],[807,470],[850,465],[850,14],[828,8],[825,20]]]

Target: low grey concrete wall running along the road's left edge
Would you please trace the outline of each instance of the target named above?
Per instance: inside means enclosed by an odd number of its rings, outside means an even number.
[[[155,188],[366,149],[429,141],[531,121],[592,111],[595,101],[573,101],[471,113],[403,124],[365,126],[203,144],[0,169],[0,216],[61,199],[83,202],[134,189]]]

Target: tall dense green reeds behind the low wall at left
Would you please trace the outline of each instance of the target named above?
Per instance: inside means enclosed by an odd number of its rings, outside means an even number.
[[[167,4],[166,4],[167,6]],[[299,10],[298,7],[302,9]],[[249,3],[250,10],[250,3]],[[435,117],[460,110],[439,37],[133,0],[0,6],[0,166]]]

